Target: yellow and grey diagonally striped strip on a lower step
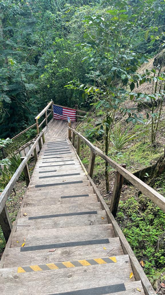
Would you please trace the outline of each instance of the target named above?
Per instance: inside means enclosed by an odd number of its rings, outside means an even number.
[[[75,261],[65,261],[58,263],[46,263],[41,265],[30,265],[18,267],[18,273],[28,273],[31,271],[48,271],[50,269],[60,269],[60,268],[71,268],[71,267],[80,267],[80,266],[91,266],[98,264],[109,264],[116,263],[116,257],[105,257],[105,258],[94,258],[94,259],[83,259]]]

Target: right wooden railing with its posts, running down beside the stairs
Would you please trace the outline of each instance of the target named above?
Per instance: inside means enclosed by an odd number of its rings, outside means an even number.
[[[111,158],[109,158],[107,155],[105,155],[99,148],[92,145],[92,143],[87,140],[83,135],[75,131],[73,128],[71,128],[71,122],[68,126],[68,137],[71,141],[71,132],[72,132],[72,144],[75,145],[75,135],[78,136],[77,141],[77,154],[80,155],[80,143],[81,140],[86,143],[86,145],[90,148],[90,159],[89,159],[89,167],[88,167],[88,174],[92,178],[93,175],[93,169],[95,165],[95,156],[98,155],[102,159],[104,159],[107,163],[110,164],[111,167],[113,167],[117,173],[116,173],[116,179],[111,199],[111,205],[110,205],[110,211],[112,212],[113,216],[116,217],[117,208],[119,204],[120,194],[122,190],[122,184],[123,184],[123,178],[127,179],[129,182],[131,182],[139,191],[141,191],[144,195],[146,195],[151,201],[153,201],[156,206],[158,206],[162,211],[165,212],[165,197],[159,194],[157,191],[152,189],[150,186],[148,186],[146,183],[144,183],[142,180],[134,176],[131,172],[129,172],[127,169],[125,169],[124,165],[120,165],[113,161]]]

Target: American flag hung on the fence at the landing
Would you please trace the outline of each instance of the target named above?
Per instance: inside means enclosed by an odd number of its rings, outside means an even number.
[[[62,106],[56,106],[53,104],[53,116],[54,119],[58,120],[68,120],[68,117],[71,119],[71,121],[76,120],[76,110],[65,108]]]

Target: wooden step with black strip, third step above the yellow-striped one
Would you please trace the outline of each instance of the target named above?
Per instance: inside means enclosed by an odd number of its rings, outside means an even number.
[[[47,217],[47,218],[46,218]],[[30,218],[30,220],[29,220]],[[31,219],[33,218],[33,219]],[[105,210],[90,210],[85,212],[70,212],[61,214],[40,215],[33,217],[18,218],[16,232],[23,230],[44,230],[62,227],[76,227],[85,225],[106,224],[107,215]]]

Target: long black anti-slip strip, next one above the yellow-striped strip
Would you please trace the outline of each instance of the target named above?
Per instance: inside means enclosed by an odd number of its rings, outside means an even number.
[[[109,244],[109,239],[100,239],[100,240],[87,240],[87,241],[77,241],[77,242],[66,242],[66,243],[57,243],[57,244],[47,244],[47,245],[36,245],[36,246],[27,246],[21,247],[21,252],[26,251],[35,251],[51,248],[65,248],[65,247],[75,247],[75,246],[86,246],[86,245],[100,245],[100,244]]]

